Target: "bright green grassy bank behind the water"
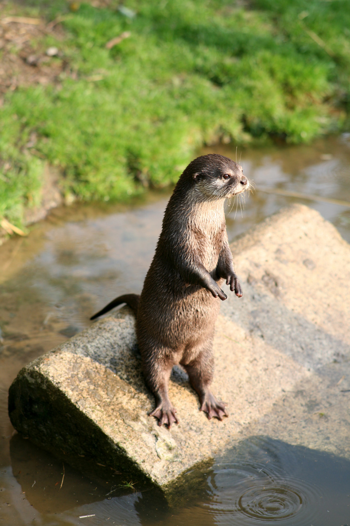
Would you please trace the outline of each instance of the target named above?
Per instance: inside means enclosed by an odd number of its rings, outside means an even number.
[[[175,181],[203,144],[300,143],[348,126],[347,0],[93,4],[3,9],[61,32],[33,42],[38,55],[59,50],[46,58],[55,80],[4,95],[0,217],[21,224],[45,163],[66,195],[125,199]]]

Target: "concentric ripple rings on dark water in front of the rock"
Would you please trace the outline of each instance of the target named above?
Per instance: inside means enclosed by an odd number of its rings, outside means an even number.
[[[246,443],[247,447],[247,443]],[[248,457],[248,459],[247,459]],[[299,463],[291,448],[264,441],[250,443],[245,454],[216,463],[208,480],[209,513],[219,524],[258,522],[312,524],[319,514],[322,490],[291,468]],[[289,471],[289,472],[288,472]]]

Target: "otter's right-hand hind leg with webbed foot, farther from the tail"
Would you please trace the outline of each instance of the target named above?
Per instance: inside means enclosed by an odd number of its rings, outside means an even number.
[[[198,393],[199,411],[206,412],[209,420],[213,417],[219,420],[228,417],[227,403],[218,400],[209,389],[214,371],[211,348],[200,352],[193,361],[183,364],[183,367],[188,374],[190,385]]]

